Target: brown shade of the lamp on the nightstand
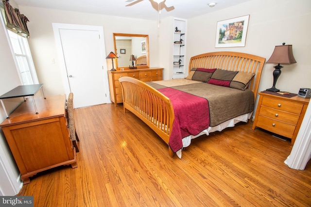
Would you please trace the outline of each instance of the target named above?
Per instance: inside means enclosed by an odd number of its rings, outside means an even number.
[[[266,63],[292,64],[296,63],[293,55],[292,45],[280,45],[274,48],[274,51]]]

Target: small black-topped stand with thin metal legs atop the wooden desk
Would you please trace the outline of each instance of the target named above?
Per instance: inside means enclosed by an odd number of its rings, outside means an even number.
[[[2,104],[2,107],[3,107],[3,110],[5,112],[6,117],[9,118],[9,116],[6,112],[6,109],[4,107],[4,104],[2,102],[2,99],[7,99],[7,98],[24,97],[24,101],[26,101],[25,96],[31,96],[33,99],[34,106],[35,106],[35,113],[38,113],[37,107],[35,105],[34,96],[40,89],[42,89],[42,93],[43,93],[43,96],[45,98],[42,83],[41,84],[33,84],[33,85],[20,85],[20,86],[17,86],[16,88],[12,89],[11,91],[3,94],[2,96],[0,96],[0,101],[1,101],[1,104]]]

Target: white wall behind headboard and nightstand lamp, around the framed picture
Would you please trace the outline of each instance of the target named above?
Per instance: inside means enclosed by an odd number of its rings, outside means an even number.
[[[217,5],[216,5],[217,6]],[[250,15],[245,47],[215,48],[217,21]],[[298,93],[311,88],[311,0],[251,0],[188,20],[187,59],[212,51],[238,51],[270,58],[276,45],[293,45],[296,64],[282,65],[276,88]],[[187,63],[189,64],[189,62]],[[259,91],[271,88],[276,64],[265,64]]]

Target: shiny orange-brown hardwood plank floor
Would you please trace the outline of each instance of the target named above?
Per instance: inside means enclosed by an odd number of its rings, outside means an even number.
[[[192,140],[182,159],[123,107],[75,110],[78,167],[38,173],[18,195],[36,207],[307,207],[311,164],[289,168],[282,141],[252,123]]]

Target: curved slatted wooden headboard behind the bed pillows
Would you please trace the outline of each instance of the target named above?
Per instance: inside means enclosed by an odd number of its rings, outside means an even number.
[[[191,57],[189,72],[191,68],[202,67],[254,73],[256,75],[249,84],[249,88],[254,92],[254,99],[256,100],[265,60],[265,58],[241,52],[209,52]]]

